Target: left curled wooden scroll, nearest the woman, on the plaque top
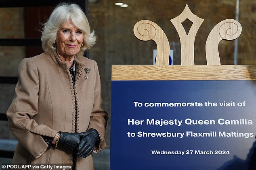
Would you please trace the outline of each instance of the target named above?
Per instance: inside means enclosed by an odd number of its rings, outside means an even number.
[[[168,66],[170,45],[164,31],[150,20],[140,20],[133,27],[134,35],[142,41],[155,41],[157,45],[157,58],[155,65]]]

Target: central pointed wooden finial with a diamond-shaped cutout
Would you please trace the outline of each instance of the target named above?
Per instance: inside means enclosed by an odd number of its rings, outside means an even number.
[[[187,34],[182,23],[186,20],[190,20],[193,25],[191,26],[189,33]],[[204,19],[199,18],[191,12],[189,6],[186,4],[183,12],[170,20],[174,25],[180,37],[181,48],[181,65],[195,65],[194,61],[194,46],[195,35],[203,23]]]

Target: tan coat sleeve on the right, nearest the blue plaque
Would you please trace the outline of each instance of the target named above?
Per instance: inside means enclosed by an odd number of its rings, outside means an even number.
[[[94,65],[94,74],[94,104],[88,129],[96,129],[99,133],[100,140],[96,143],[94,148],[94,152],[99,152],[106,147],[105,129],[107,126],[108,114],[101,107],[101,80],[96,62]]]

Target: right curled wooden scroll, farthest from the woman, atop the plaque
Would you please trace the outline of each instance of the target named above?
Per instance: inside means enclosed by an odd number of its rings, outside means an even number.
[[[206,62],[207,65],[220,65],[218,45],[222,39],[233,40],[242,32],[241,24],[234,19],[222,20],[208,35],[206,40]]]

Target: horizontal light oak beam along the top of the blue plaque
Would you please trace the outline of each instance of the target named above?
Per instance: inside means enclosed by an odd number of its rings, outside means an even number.
[[[112,80],[256,80],[256,65],[112,66]]]

